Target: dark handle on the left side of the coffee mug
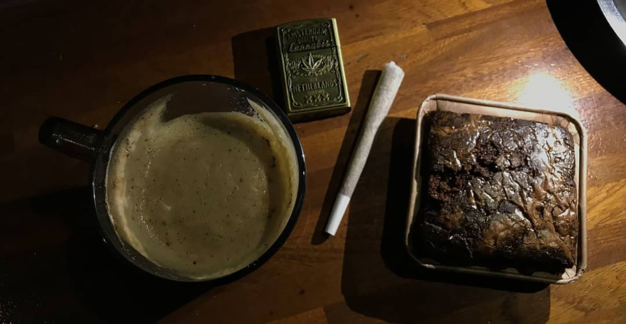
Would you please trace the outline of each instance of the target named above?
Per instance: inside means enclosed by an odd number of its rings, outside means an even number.
[[[104,132],[59,117],[49,117],[39,127],[39,143],[87,162],[98,157]]]

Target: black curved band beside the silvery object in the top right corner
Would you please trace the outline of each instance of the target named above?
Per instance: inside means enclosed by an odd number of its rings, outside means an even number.
[[[580,64],[626,104],[626,46],[604,18],[597,1],[546,3],[565,44]]]

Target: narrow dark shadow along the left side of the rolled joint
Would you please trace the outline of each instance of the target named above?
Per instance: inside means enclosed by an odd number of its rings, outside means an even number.
[[[374,88],[376,88],[376,83],[380,76],[381,71],[379,70],[367,70],[363,73],[361,90],[352,108],[352,115],[350,116],[346,133],[344,133],[344,140],[341,143],[337,161],[332,169],[331,180],[326,190],[326,196],[324,196],[324,202],[322,202],[322,209],[319,213],[319,218],[317,219],[317,224],[311,238],[311,244],[313,245],[324,243],[329,237],[329,234],[324,232],[324,229],[326,228],[328,217],[331,216],[332,205],[335,203],[344,175],[346,175],[347,164],[352,156],[354,145],[356,145],[357,134],[361,132],[361,126],[365,118],[367,107],[369,107],[369,102],[372,99]]]

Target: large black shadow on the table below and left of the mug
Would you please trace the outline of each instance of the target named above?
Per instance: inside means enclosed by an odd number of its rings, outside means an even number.
[[[103,242],[92,201],[81,187],[0,205],[0,304],[14,307],[0,320],[152,323],[210,289],[122,260]]]

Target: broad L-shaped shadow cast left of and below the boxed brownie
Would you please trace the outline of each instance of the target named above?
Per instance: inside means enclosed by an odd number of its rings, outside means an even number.
[[[409,262],[403,236],[414,138],[414,119],[386,118],[352,196],[341,282],[347,306],[396,323],[545,323],[548,285],[432,273]]]

